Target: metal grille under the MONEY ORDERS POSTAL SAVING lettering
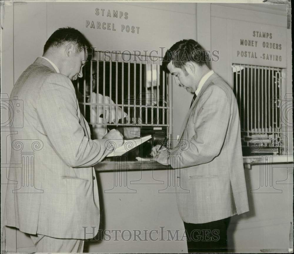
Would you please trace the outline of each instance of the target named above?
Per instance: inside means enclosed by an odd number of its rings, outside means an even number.
[[[281,68],[233,64],[233,91],[238,101],[243,155],[280,154]]]

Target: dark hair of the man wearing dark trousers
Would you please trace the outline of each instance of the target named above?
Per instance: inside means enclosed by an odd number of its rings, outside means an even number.
[[[167,65],[170,61],[173,61],[173,66],[185,70],[185,64],[187,62],[195,62],[199,66],[206,64],[206,55],[203,47],[192,39],[178,41],[163,57],[162,67],[163,70],[168,72]]]

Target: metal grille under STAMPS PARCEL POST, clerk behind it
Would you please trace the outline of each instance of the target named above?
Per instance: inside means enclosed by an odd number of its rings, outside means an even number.
[[[96,51],[83,68],[76,91],[90,125],[169,127],[169,75],[160,65],[161,58],[138,59]]]

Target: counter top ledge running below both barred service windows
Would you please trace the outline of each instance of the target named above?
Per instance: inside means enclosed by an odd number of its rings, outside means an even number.
[[[293,155],[260,155],[260,156],[244,156],[243,162],[245,165],[259,164],[260,161],[263,163],[293,163]],[[118,164],[122,166],[118,168]],[[127,171],[138,171],[138,170],[163,170],[172,169],[171,166],[164,166],[156,161],[122,161],[122,160],[110,160],[97,163],[95,171],[113,171],[127,170]]]

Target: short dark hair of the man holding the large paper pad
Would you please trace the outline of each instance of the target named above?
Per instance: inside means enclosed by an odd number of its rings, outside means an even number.
[[[43,54],[45,54],[50,47],[60,47],[66,42],[72,42],[76,45],[76,53],[81,52],[83,47],[91,47],[89,41],[80,31],[72,27],[63,27],[51,34],[44,45]]]

